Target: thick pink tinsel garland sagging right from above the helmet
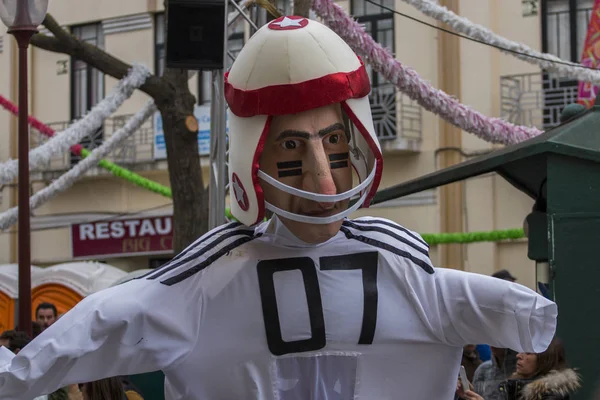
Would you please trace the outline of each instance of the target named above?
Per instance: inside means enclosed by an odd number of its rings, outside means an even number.
[[[402,65],[365,32],[342,7],[332,0],[314,0],[313,8],[325,23],[340,35],[367,62],[423,108],[440,115],[457,127],[491,143],[514,144],[541,133],[500,118],[486,117],[426,82],[410,67]]]

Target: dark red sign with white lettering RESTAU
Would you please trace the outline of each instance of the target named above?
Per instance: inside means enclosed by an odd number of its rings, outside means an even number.
[[[173,218],[148,217],[71,225],[73,258],[169,254]]]

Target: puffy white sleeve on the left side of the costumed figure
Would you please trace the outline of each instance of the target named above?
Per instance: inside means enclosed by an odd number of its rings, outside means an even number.
[[[195,345],[194,290],[137,279],[85,298],[0,367],[0,399],[175,366]]]

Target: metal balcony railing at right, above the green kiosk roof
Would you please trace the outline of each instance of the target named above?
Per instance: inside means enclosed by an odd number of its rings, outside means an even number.
[[[548,129],[560,124],[560,113],[577,101],[577,81],[548,73],[500,78],[501,117],[518,125]]]

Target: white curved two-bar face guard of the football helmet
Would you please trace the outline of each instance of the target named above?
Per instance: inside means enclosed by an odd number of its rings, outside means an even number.
[[[283,210],[265,200],[265,207],[267,208],[267,210],[272,211],[273,213],[275,213],[281,217],[290,219],[292,221],[303,222],[303,223],[307,223],[307,224],[327,225],[332,222],[336,222],[336,221],[346,218],[348,215],[352,214],[354,211],[356,211],[360,208],[360,206],[365,202],[365,199],[367,198],[367,194],[369,192],[366,189],[369,187],[369,185],[371,185],[371,183],[375,179],[376,170],[377,170],[377,161],[375,161],[375,163],[373,165],[373,169],[371,170],[371,173],[369,174],[367,179],[365,179],[363,182],[361,182],[355,188],[350,189],[343,193],[339,193],[339,194],[320,194],[320,193],[313,193],[313,192],[308,192],[306,190],[297,189],[293,186],[289,186],[283,182],[278,181],[277,179],[273,178],[272,176],[266,174],[265,172],[263,172],[261,170],[258,171],[258,177],[263,179],[265,182],[267,182],[271,186],[274,186],[275,188],[277,188],[283,192],[286,192],[288,194],[291,194],[293,196],[297,196],[297,197],[300,197],[300,198],[303,198],[306,200],[312,200],[312,201],[316,201],[317,203],[320,203],[320,204],[324,203],[327,205],[327,208],[324,210],[317,210],[317,209],[312,210],[311,209],[310,210],[311,212],[309,213],[309,215],[303,215],[303,214],[296,214],[296,213],[293,213],[290,211]],[[349,207],[346,210],[343,210],[339,213],[336,213],[334,215],[326,215],[328,213],[331,213],[333,210],[335,210],[336,203],[338,203],[339,201],[349,200],[361,192],[362,192],[362,194],[361,194],[359,200],[356,203],[354,203],[351,207]],[[312,211],[315,211],[315,213],[312,213]]]

